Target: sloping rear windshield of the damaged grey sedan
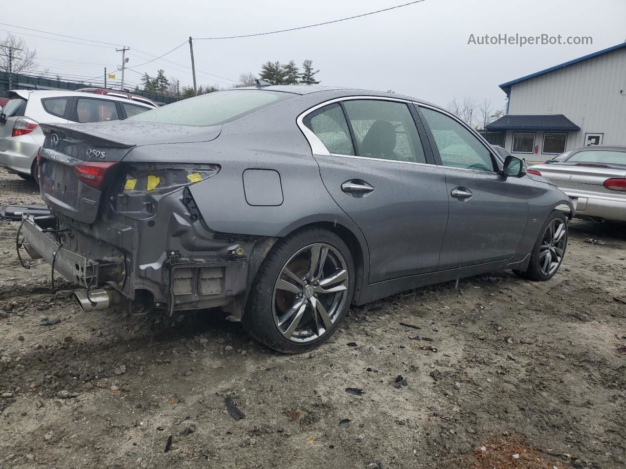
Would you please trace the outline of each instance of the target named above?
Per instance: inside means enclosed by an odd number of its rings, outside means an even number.
[[[255,89],[235,89],[202,94],[128,118],[187,126],[213,126],[233,121],[294,96]]]

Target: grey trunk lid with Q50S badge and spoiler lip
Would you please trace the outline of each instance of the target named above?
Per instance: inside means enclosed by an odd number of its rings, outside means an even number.
[[[48,206],[83,223],[98,218],[101,201],[120,176],[120,161],[136,146],[210,141],[221,126],[190,127],[156,123],[41,124],[39,185]],[[173,156],[174,162],[175,156]],[[78,168],[80,166],[80,168]],[[103,169],[103,166],[106,166]],[[94,169],[97,187],[84,183],[79,172]],[[84,177],[84,176],[83,176]]]

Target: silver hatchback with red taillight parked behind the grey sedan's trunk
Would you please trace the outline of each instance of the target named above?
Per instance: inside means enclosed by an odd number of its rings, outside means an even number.
[[[71,91],[8,91],[0,113],[0,166],[24,179],[36,179],[35,156],[43,144],[40,123],[115,121],[156,106],[130,99]]]

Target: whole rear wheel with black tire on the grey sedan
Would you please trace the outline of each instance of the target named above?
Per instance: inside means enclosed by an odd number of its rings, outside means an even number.
[[[282,353],[326,341],[346,317],[354,262],[339,236],[322,228],[292,233],[268,253],[243,318],[250,335]]]

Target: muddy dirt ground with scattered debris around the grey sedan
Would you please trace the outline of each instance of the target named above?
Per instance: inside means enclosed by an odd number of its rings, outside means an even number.
[[[7,203],[41,200],[3,172]],[[626,467],[625,226],[574,221],[548,282],[396,295],[295,356],[215,311],[83,313],[49,265],[21,268],[17,228],[0,222],[1,468]]]

